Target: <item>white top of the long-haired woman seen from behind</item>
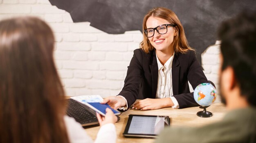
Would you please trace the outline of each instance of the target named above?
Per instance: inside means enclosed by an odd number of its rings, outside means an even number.
[[[93,143],[92,139],[85,132],[85,129],[76,122],[76,120],[69,116],[64,116],[67,134],[70,143]],[[101,126],[94,143],[116,143],[117,133],[114,124],[105,124]]]

